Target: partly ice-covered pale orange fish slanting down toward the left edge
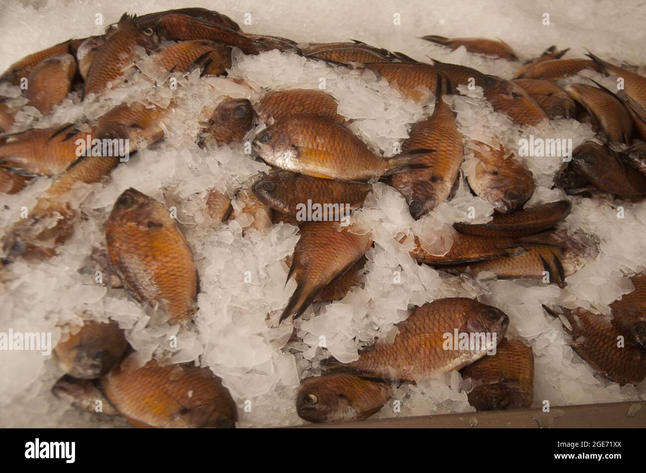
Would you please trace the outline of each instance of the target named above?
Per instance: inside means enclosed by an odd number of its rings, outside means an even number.
[[[72,187],[98,183],[119,163],[117,156],[84,156],[57,176],[28,211],[28,218],[17,221],[2,237],[3,263],[21,256],[34,261],[54,256],[57,246],[72,234],[78,217],[78,209],[70,206]]]

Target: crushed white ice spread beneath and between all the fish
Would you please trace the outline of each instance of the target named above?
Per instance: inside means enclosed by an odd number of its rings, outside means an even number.
[[[0,7],[0,69],[25,54],[68,39],[70,32],[77,37],[98,34],[107,23],[132,8],[124,1],[106,6],[98,0],[82,6],[55,1],[39,2],[38,6],[35,11],[18,2]],[[180,6],[213,5],[206,1],[160,4],[151,0],[139,2],[137,8],[145,13]],[[385,8],[372,8],[367,4],[327,1],[307,5],[274,2],[269,6],[251,0],[225,0],[218,3],[218,8],[249,32],[284,35],[295,41],[360,39],[416,59],[431,56],[507,78],[516,68],[508,61],[468,54],[463,48],[450,52],[416,37],[464,36],[466,32],[503,37],[526,58],[555,43],[561,48],[572,46],[572,56],[581,55],[580,46],[585,45],[599,55],[638,62],[644,35],[641,27],[630,28],[643,24],[638,8],[617,9],[606,1],[595,4],[594,15],[589,14],[587,2],[565,5],[556,1],[541,8],[500,2],[495,10],[489,4],[460,5],[455,0],[433,3],[432,8],[421,2],[393,2]],[[550,14],[550,25],[543,25],[545,12]],[[95,23],[99,13],[103,15],[103,25]],[[397,15],[399,25],[393,23]],[[247,17],[251,25],[245,23]],[[559,321],[546,316],[541,308],[541,304],[560,303],[607,313],[610,302],[631,290],[625,276],[646,267],[645,203],[572,197],[572,214],[564,226],[594,237],[599,255],[568,278],[565,289],[559,289],[530,281],[474,281],[417,265],[408,255],[410,240],[397,243],[402,236],[417,234],[424,248],[443,254],[452,244],[452,223],[463,220],[471,206],[475,208],[476,222],[486,221],[492,214],[492,205],[472,196],[461,176],[450,202],[414,221],[401,195],[377,183],[364,208],[353,214],[357,228],[371,230],[375,240],[375,247],[367,254],[365,284],[353,288],[340,301],[308,308],[294,324],[298,341],[289,341],[294,327],[285,323],[276,328],[276,321],[295,288],[293,281],[285,286],[288,268],[284,259],[293,252],[297,228],[278,224],[243,231],[240,221],[216,230],[209,225],[204,212],[209,189],[233,196],[240,186],[268,168],[245,154],[242,143],[199,148],[195,138],[200,121],[225,96],[245,97],[257,103],[268,90],[319,88],[324,83],[326,92],[339,101],[339,113],[352,120],[353,132],[375,152],[391,156],[395,145],[408,136],[410,126],[432,114],[433,97],[422,106],[404,99],[370,71],[333,68],[277,51],[258,56],[235,55],[229,77],[244,79],[246,85],[223,78],[200,79],[195,73],[173,74],[179,86],[171,91],[167,87],[169,74],[153,68],[146,58],[138,66],[142,74],[129,87],[111,90],[96,102],[80,103],[78,97],[68,98],[48,117],[41,117],[30,107],[20,112],[18,127],[43,128],[81,117],[95,119],[128,99],[145,97],[162,106],[168,105],[171,98],[175,101],[174,112],[165,122],[167,134],[163,142],[114,170],[109,183],[75,190],[78,194],[74,201],[87,219],[76,223],[74,236],[60,248],[59,256],[39,264],[17,261],[6,271],[0,288],[0,332],[9,328],[52,332],[55,344],[65,336],[66,329],[58,327],[79,321],[82,314],[90,313],[99,319],[110,317],[127,330],[140,363],[151,357],[176,363],[196,361],[221,376],[238,403],[242,426],[293,425],[302,422],[295,412],[295,388],[303,377],[320,372],[321,359],[334,356],[351,361],[377,337],[377,343],[388,343],[396,335],[395,324],[405,319],[413,306],[439,297],[475,297],[504,310],[510,317],[508,334],[532,344],[536,357],[536,407],[545,399],[554,406],[646,398],[643,385],[620,388],[593,376],[592,368],[568,347],[568,337]],[[515,148],[519,137],[534,134],[570,138],[576,146],[592,136],[589,126],[573,120],[524,129],[512,126],[508,117],[493,112],[477,88],[464,92],[463,97],[446,99],[457,114],[465,145],[470,140],[486,141],[497,136]],[[5,87],[0,93],[21,101],[16,88]],[[467,150],[464,172],[468,172],[470,157]],[[561,192],[550,189],[560,165],[558,157],[524,161],[537,180],[530,205],[563,197]],[[48,179],[41,179],[17,196],[3,196],[0,232],[16,221],[21,206],[31,207],[49,184]],[[178,220],[194,251],[202,290],[199,311],[194,327],[178,335],[176,348],[169,344],[169,337],[178,334],[176,327],[149,324],[154,317],[149,309],[132,301],[123,290],[96,285],[94,274],[79,272],[95,248],[105,248],[105,219],[116,197],[129,187],[176,206]],[[618,207],[622,207],[621,212]],[[623,218],[618,218],[620,213]],[[320,346],[322,340],[326,348]],[[0,351],[0,425],[122,423],[98,421],[69,410],[50,394],[60,374],[52,357]],[[393,399],[378,416],[473,410],[460,386],[460,376],[453,372],[420,379],[416,385],[393,387]],[[395,401],[399,401],[400,408],[394,408]]]

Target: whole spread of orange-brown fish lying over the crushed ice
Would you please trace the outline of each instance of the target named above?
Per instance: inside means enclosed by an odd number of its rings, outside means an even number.
[[[433,35],[423,39],[518,61],[502,41]],[[567,50],[554,46],[520,66],[517,78],[508,81],[465,66],[421,63],[360,41],[297,44],[245,34],[218,12],[182,8],[140,17],[124,14],[103,35],[71,39],[28,55],[10,66],[0,81],[28,84],[28,105],[47,115],[69,94],[94,101],[111,88],[128,86],[132,74],[138,74],[132,65],[142,55],[168,72],[199,70],[200,77],[208,77],[227,75],[232,53],[257,55],[274,49],[334,68],[370,70],[407,99],[425,103],[433,96],[435,101],[432,114],[412,124],[400,152],[391,157],[375,153],[355,135],[334,97],[322,90],[275,90],[256,104],[227,98],[214,107],[197,138],[200,146],[209,141],[240,143],[256,124],[265,124],[251,148],[256,159],[273,169],[240,188],[233,199],[211,190],[206,205],[213,222],[220,225],[246,214],[244,229],[278,222],[299,227],[287,277],[296,279],[297,288],[280,323],[302,316],[314,302],[341,299],[362,284],[373,236],[342,221],[362,208],[375,183],[383,181],[399,191],[414,219],[431,214],[452,197],[460,181],[465,139],[445,99],[460,94],[460,86],[480,87],[493,109],[517,125],[533,126],[557,117],[590,123],[598,132],[596,141],[579,146],[556,179],[569,194],[646,197],[646,145],[638,141],[646,140],[646,78],[593,54],[590,59],[562,59]],[[625,87],[613,92],[600,85],[557,85],[557,79],[585,69],[621,77]],[[127,139],[132,154],[163,139],[163,121],[173,108],[172,101],[167,106],[132,101],[96,120],[14,130],[19,107],[8,98],[2,101],[0,191],[16,194],[41,176],[53,180],[28,218],[2,236],[2,264],[56,255],[57,247],[72,235],[74,221],[86,217],[72,205],[70,190],[77,183],[109,179],[123,161],[123,156],[101,153],[79,156],[79,137]],[[534,176],[521,160],[502,143],[472,145],[477,164],[467,176],[468,185],[475,196],[494,206],[492,219],[455,223],[453,245],[440,255],[426,248],[421,236],[407,236],[399,243],[413,246],[410,255],[418,263],[451,274],[536,278],[563,287],[592,252],[580,237],[554,230],[572,203],[525,206],[534,193]],[[304,219],[300,206],[308,201],[333,212],[324,221]],[[347,208],[339,208],[339,203],[347,203]],[[105,237],[107,252],[94,257],[92,264],[106,277],[114,276],[110,285],[125,288],[142,305],[154,308],[160,323],[191,324],[199,274],[191,244],[165,203],[134,188],[126,190],[114,203]],[[636,290],[612,304],[612,321],[582,309],[563,314],[572,347],[603,376],[623,384],[646,377],[646,279],[636,276],[632,281]],[[559,316],[555,308],[546,309]],[[392,343],[378,341],[351,363],[328,361],[322,376],[304,379],[296,393],[298,414],[313,422],[367,418],[388,403],[397,383],[452,370],[474,380],[468,398],[479,410],[529,407],[532,349],[505,337],[508,323],[498,308],[462,297],[416,307],[397,325]],[[141,366],[130,356],[134,349],[114,321],[87,317],[81,327],[66,330],[68,339],[56,348],[66,374],[53,391],[76,407],[98,412],[101,405],[103,415],[120,415],[140,427],[235,426],[233,398],[222,379],[207,368],[157,360]],[[448,350],[443,334],[454,330],[487,334],[494,345]],[[617,337],[624,337],[625,345],[618,347]],[[495,355],[488,356],[493,348]]]

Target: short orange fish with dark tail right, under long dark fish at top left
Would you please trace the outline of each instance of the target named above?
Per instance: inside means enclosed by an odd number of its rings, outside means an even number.
[[[168,72],[202,67],[203,75],[220,75],[231,67],[231,48],[205,39],[182,41],[155,54],[152,62]]]

